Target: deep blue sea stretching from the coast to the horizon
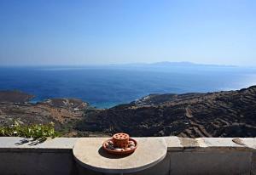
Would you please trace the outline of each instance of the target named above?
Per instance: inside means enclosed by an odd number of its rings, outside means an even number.
[[[1,67],[0,90],[49,98],[79,98],[97,108],[129,103],[149,93],[206,93],[256,84],[256,69],[205,65]]]

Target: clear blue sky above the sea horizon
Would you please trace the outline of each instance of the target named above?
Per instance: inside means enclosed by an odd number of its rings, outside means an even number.
[[[255,0],[0,0],[0,65],[256,66]]]

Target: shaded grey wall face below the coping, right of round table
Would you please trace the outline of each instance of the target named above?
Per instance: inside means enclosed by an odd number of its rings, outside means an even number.
[[[171,152],[172,175],[250,174],[252,153]]]

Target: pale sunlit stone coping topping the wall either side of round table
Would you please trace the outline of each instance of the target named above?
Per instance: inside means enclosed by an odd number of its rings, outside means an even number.
[[[153,137],[154,138],[154,137]],[[256,138],[178,138],[162,137],[168,152],[172,151],[253,151]],[[0,137],[0,152],[6,151],[71,151],[79,138],[49,138],[37,143],[32,138]],[[107,138],[102,138],[105,140]],[[135,138],[136,139],[136,138]],[[150,139],[150,137],[148,138]]]

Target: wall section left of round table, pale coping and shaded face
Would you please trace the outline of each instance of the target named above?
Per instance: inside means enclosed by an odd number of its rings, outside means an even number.
[[[54,138],[42,144],[25,138],[0,138],[0,175],[77,174],[73,144],[77,138]]]

